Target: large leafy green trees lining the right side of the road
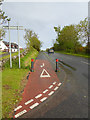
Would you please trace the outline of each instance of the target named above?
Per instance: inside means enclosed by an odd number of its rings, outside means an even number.
[[[88,20],[85,18],[77,25],[54,27],[57,34],[53,45],[55,51],[65,51],[72,53],[90,53],[88,44]],[[83,45],[86,45],[83,47]]]

